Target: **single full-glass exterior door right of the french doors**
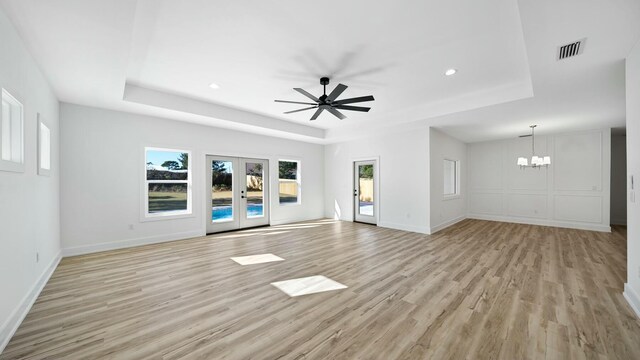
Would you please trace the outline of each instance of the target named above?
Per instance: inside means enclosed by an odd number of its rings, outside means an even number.
[[[376,161],[355,161],[353,163],[353,220],[376,224],[377,201],[375,178]]]

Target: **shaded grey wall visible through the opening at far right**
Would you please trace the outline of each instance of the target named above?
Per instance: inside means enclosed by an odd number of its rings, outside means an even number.
[[[611,224],[627,224],[627,137],[611,135]]]

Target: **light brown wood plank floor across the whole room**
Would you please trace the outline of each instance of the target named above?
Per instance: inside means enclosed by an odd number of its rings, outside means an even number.
[[[640,359],[625,238],[319,220],[66,258],[0,358]],[[270,285],[313,275],[348,288]]]

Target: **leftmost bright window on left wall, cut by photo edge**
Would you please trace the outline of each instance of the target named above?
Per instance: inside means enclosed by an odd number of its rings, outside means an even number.
[[[24,120],[22,104],[2,89],[0,116],[0,170],[24,172]]]

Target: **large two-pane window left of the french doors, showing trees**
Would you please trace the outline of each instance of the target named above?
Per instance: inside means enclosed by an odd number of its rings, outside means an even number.
[[[145,148],[145,217],[191,214],[191,152]]]

